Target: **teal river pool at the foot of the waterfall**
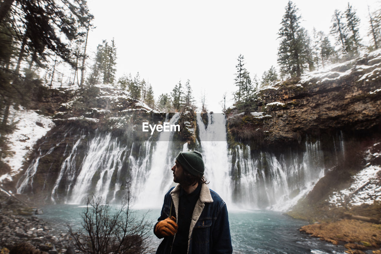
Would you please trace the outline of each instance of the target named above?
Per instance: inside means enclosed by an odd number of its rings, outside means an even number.
[[[42,209],[45,213],[38,216],[56,225],[54,230],[58,234],[67,231],[67,223],[74,228],[80,227],[82,221],[80,214],[84,206],[62,204],[44,206]],[[137,212],[139,215],[146,211]],[[150,210],[148,215],[149,220],[154,223],[160,215],[160,210]],[[229,211],[229,223],[235,254],[334,254],[345,251],[343,246],[335,246],[300,233],[298,228],[306,225],[306,221],[293,219],[281,212]],[[156,248],[160,241],[153,233],[148,239],[152,248]]]

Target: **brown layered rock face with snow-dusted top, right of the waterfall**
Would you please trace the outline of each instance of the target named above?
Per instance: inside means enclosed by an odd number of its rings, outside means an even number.
[[[228,110],[235,140],[276,146],[300,143],[306,134],[379,129],[381,51],[278,82],[261,90],[250,106]]]

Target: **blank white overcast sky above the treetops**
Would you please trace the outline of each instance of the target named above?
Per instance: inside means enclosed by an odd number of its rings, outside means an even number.
[[[330,31],[335,9],[344,11],[348,1],[293,1],[302,16],[301,26]],[[117,1],[88,0],[94,29],[88,53],[102,39],[115,38],[117,79],[139,72],[149,80],[155,99],[170,93],[179,80],[190,79],[197,105],[205,88],[207,108],[220,112],[223,93],[235,90],[237,57],[245,57],[251,77],[277,65],[277,32],[288,0],[277,1]],[[360,18],[360,33],[368,44],[368,10],[375,0],[351,1]],[[312,36],[312,35],[311,35]],[[334,43],[331,41],[331,43]],[[231,96],[232,97],[232,96]],[[231,101],[229,104],[232,104]]]

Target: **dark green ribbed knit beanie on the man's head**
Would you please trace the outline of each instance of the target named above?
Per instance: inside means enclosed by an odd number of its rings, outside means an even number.
[[[182,168],[187,170],[189,174],[202,177],[204,175],[204,161],[199,151],[180,152],[176,156],[176,160],[181,164]]]

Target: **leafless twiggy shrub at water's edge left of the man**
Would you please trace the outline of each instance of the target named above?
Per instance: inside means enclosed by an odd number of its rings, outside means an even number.
[[[125,201],[115,210],[102,198],[88,196],[86,210],[82,212],[83,228],[74,232],[68,225],[69,234],[82,253],[142,254],[152,251],[145,242],[152,229],[146,219],[147,213],[140,219],[137,217],[131,210],[129,184],[126,189]]]

